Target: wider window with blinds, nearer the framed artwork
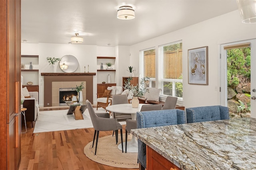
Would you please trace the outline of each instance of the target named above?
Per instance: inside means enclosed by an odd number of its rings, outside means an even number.
[[[158,46],[158,88],[162,96],[182,100],[182,42]]]

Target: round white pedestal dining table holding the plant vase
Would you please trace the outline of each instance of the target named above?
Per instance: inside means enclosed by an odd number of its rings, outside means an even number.
[[[107,111],[117,112],[117,113],[124,113],[124,114],[131,114],[132,120],[136,120],[137,111],[140,111],[142,105],[139,104],[137,108],[132,107],[132,104],[115,104],[111,106],[107,106]],[[125,147],[125,142],[123,143]],[[122,145],[118,145],[118,149],[122,150]],[[125,150],[125,149],[124,149]],[[127,152],[138,152],[138,141],[137,138],[132,135],[132,140],[127,142]]]

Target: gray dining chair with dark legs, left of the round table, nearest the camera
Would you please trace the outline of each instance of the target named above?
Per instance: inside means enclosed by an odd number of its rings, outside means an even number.
[[[91,102],[89,100],[86,100],[86,106],[88,108],[91,120],[92,120],[92,125],[94,128],[94,137],[93,137],[93,142],[92,142],[92,147],[94,146],[94,141],[95,141],[95,136],[97,133],[97,138],[96,138],[96,146],[95,146],[95,155],[97,151],[97,145],[98,145],[98,139],[99,139],[99,132],[100,131],[115,131],[116,132],[116,144],[118,143],[118,130],[120,129],[120,134],[121,134],[121,144],[122,144],[122,152],[123,150],[123,134],[122,134],[122,125],[116,121],[116,119],[111,119],[107,117],[106,114],[108,113],[99,113],[98,115],[95,113]],[[108,114],[109,115],[109,114]],[[99,117],[102,116],[102,117]]]

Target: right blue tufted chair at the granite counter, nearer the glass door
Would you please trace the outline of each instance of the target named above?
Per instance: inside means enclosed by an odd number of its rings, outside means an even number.
[[[228,107],[202,106],[186,108],[187,123],[229,119]]]

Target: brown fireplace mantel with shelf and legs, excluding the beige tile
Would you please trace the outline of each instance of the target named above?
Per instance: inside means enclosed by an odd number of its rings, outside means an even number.
[[[82,81],[86,82],[86,99],[93,101],[93,76],[95,72],[72,72],[72,73],[45,73],[44,76],[44,107],[52,106],[52,82],[65,82],[65,81]],[[85,99],[85,100],[86,100]]]

